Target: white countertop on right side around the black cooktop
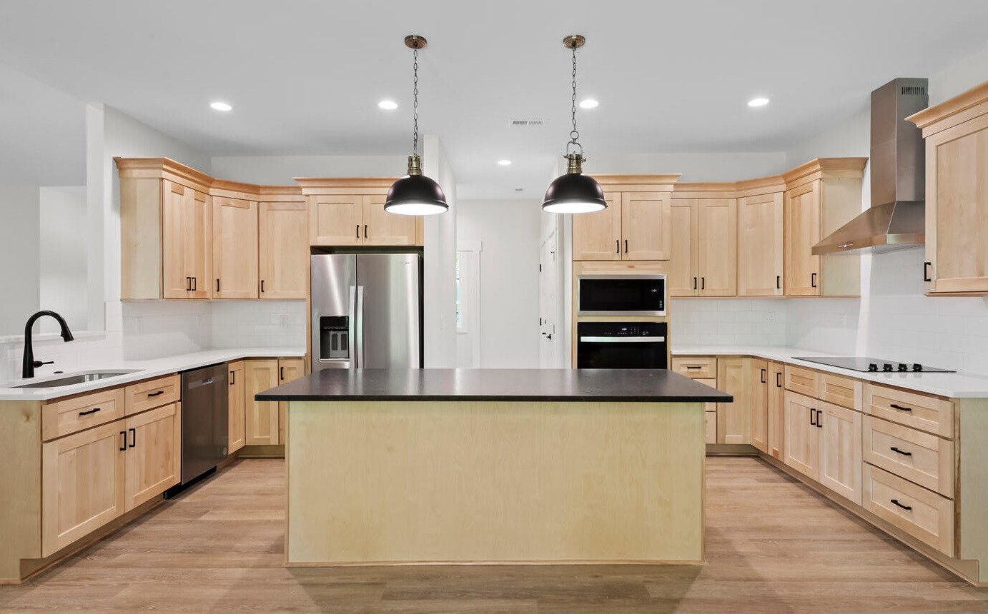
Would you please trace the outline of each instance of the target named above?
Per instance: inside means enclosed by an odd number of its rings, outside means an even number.
[[[818,362],[796,360],[793,356],[837,356],[839,354],[801,349],[799,347],[776,347],[764,345],[674,345],[674,356],[755,356],[795,364],[817,371],[855,377],[864,381],[887,386],[897,386],[916,392],[950,397],[953,399],[988,398],[988,377],[970,373],[867,373],[842,369]],[[847,355],[847,354],[840,354]]]

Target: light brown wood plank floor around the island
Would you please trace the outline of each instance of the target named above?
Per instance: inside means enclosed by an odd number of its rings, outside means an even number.
[[[282,567],[285,465],[245,460],[3,610],[988,612],[975,589],[753,458],[707,463],[705,566]]]

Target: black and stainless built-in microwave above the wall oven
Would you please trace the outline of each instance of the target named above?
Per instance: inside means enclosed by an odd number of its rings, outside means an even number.
[[[576,278],[578,316],[664,316],[666,276],[585,273]]]

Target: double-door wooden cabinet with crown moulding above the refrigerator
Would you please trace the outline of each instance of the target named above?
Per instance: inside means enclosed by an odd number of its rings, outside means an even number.
[[[309,245],[418,246],[423,244],[420,216],[384,210],[390,178],[296,178],[308,202]]]

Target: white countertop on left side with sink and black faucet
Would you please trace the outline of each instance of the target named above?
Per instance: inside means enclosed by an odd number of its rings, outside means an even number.
[[[168,375],[188,369],[216,364],[217,362],[229,362],[241,358],[275,358],[275,357],[301,357],[305,355],[304,347],[244,347],[225,349],[206,349],[193,353],[165,356],[162,358],[152,358],[149,360],[111,360],[94,362],[88,365],[86,371],[133,371],[116,377],[85,382],[82,384],[72,384],[70,386],[59,386],[57,388],[15,388],[20,384],[33,384],[44,380],[69,377],[82,371],[66,371],[65,373],[47,374],[32,379],[15,380],[12,382],[0,383],[0,401],[47,401],[58,397],[67,397],[89,392],[101,388],[113,388],[130,382],[137,382],[150,377]]]

